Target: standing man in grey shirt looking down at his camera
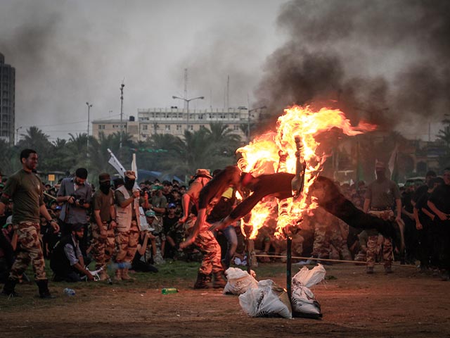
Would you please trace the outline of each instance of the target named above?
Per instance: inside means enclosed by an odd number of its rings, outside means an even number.
[[[60,214],[61,236],[71,233],[72,225],[80,223],[83,225],[84,236],[80,248],[86,256],[88,216],[86,211],[91,206],[92,188],[86,182],[87,170],[78,168],[74,177],[68,177],[61,181],[56,201],[64,202]]]

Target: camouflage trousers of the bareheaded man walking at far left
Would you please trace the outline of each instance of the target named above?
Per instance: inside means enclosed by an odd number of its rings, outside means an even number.
[[[18,251],[9,277],[18,280],[31,262],[34,280],[46,280],[44,254],[39,242],[39,223],[23,222],[14,225],[14,229],[18,234]]]

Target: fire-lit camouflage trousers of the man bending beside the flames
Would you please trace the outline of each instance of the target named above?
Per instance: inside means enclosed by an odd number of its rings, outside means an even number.
[[[210,273],[220,273],[224,270],[220,261],[221,251],[220,245],[217,243],[214,234],[208,230],[209,224],[203,226],[195,239],[194,244],[203,253],[202,263],[200,265],[200,273],[210,275]]]

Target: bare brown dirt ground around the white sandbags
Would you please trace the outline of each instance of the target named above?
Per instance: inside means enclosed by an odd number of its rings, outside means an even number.
[[[284,266],[262,264],[255,268],[257,279],[285,287]],[[321,320],[248,318],[238,296],[193,290],[191,276],[79,283],[72,297],[63,294],[66,284],[51,283],[58,299],[37,299],[32,285],[17,287],[20,301],[0,299],[0,337],[450,337],[450,282],[411,267],[397,266],[391,275],[380,265],[374,275],[351,264],[326,270],[328,279],[313,288]],[[161,294],[164,284],[179,293]]]

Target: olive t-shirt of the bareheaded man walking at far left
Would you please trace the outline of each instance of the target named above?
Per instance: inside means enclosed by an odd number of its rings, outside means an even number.
[[[2,202],[13,200],[13,224],[39,223],[39,207],[44,204],[42,182],[34,173],[20,169],[6,181]]]

